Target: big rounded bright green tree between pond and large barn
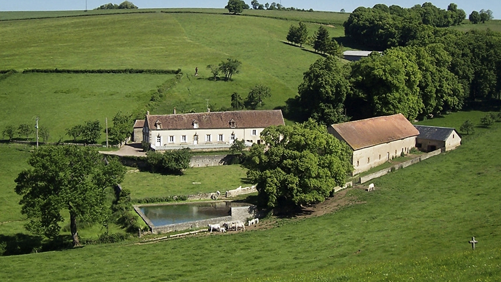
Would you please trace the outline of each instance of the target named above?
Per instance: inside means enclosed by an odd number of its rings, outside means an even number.
[[[261,133],[244,166],[257,183],[260,204],[295,207],[324,201],[344,184],[353,167],[350,148],[310,120],[293,126],[270,126]]]

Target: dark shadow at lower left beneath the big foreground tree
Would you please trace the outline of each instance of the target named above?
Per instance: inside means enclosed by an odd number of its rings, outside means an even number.
[[[17,233],[15,235],[0,234],[0,255],[19,255],[34,252],[71,249],[70,235],[58,236],[54,240],[43,240],[41,236]]]

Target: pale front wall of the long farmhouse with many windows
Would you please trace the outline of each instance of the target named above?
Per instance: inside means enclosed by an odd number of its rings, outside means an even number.
[[[158,147],[178,147],[190,145],[211,145],[211,148],[229,147],[234,139],[244,140],[248,143],[258,143],[264,128],[224,128],[224,129],[150,129],[147,132],[149,142],[154,149]],[[168,148],[159,148],[165,150]]]

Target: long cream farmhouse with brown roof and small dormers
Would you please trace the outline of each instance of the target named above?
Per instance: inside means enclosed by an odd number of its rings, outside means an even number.
[[[143,140],[154,150],[229,148],[234,140],[261,143],[261,131],[285,125],[281,110],[146,114]]]

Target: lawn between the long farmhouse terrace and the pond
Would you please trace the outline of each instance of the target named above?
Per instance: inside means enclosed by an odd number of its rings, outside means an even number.
[[[131,190],[133,199],[172,195],[193,195],[245,187],[246,169],[240,165],[188,168],[184,175],[161,175],[130,168],[122,187]],[[193,184],[193,182],[200,184]]]

